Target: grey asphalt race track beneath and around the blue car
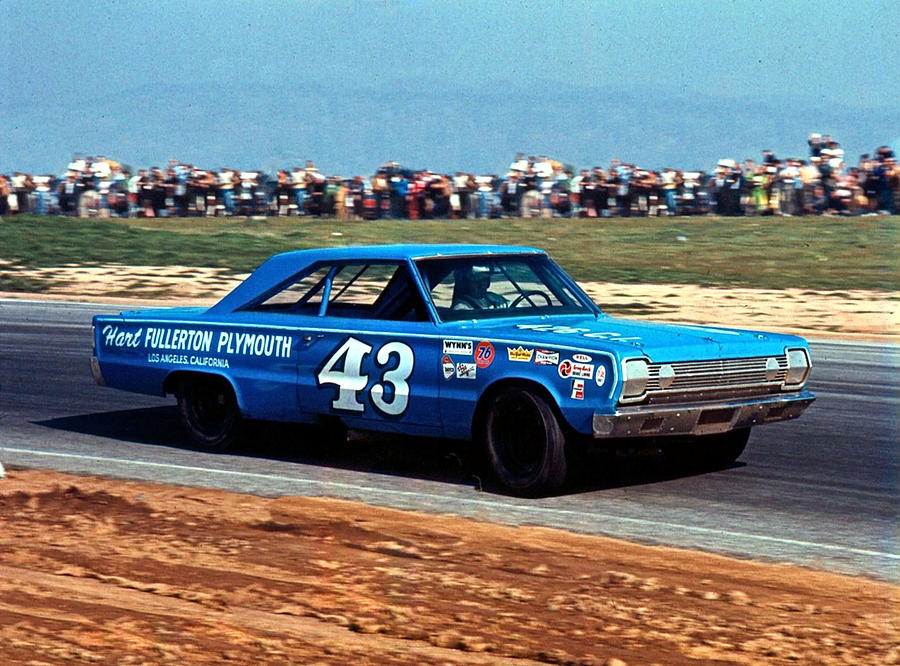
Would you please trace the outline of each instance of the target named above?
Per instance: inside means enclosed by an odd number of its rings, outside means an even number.
[[[96,386],[90,318],[121,307],[0,300],[0,462],[6,467],[325,495],[540,524],[900,580],[900,348],[813,342],[818,400],[757,428],[736,465],[673,472],[651,458],[589,470],[567,494],[483,491],[459,446],[261,428],[235,455],[187,448],[174,399]]]

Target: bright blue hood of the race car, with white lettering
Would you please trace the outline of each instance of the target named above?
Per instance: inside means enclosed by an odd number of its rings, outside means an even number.
[[[709,360],[781,355],[786,347],[805,347],[802,338],[780,333],[745,331],[693,324],[660,324],[609,315],[517,317],[458,322],[460,335],[469,329],[485,337],[545,347],[609,352],[619,358],[646,356],[652,362]]]

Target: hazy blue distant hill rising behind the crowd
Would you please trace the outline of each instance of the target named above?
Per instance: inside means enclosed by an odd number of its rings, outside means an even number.
[[[291,81],[288,83],[288,81]],[[896,140],[898,107],[836,108],[819,100],[685,96],[553,82],[489,81],[468,88],[373,78],[368,87],[227,81],[84,90],[73,104],[0,107],[0,171],[59,172],[73,152],[135,167],[169,157],[206,167],[274,170],[306,159],[327,173],[370,174],[396,160],[413,168],[503,172],[516,152],[576,167],[613,157],[648,168],[711,168],[721,157],[806,153],[809,132],[831,133],[848,161]]]

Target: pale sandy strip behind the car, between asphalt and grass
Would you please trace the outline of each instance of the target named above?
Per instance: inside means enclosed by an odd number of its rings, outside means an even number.
[[[0,273],[4,267],[0,265]],[[46,285],[18,298],[102,300],[123,304],[211,305],[243,276],[187,266],[59,266],[16,269],[21,278]],[[900,294],[867,290],[740,289],[695,285],[588,282],[581,285],[611,314],[656,321],[728,325],[900,342]]]

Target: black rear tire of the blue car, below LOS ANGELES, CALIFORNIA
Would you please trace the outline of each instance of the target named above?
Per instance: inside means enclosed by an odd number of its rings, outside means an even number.
[[[178,413],[191,442],[205,451],[227,451],[241,427],[234,390],[221,377],[186,377],[178,383]]]

